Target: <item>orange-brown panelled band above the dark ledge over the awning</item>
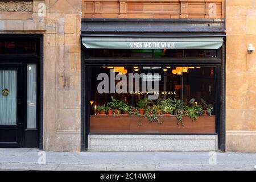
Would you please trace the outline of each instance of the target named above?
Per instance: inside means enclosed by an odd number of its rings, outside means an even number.
[[[224,0],[82,0],[82,18],[224,18]]]

